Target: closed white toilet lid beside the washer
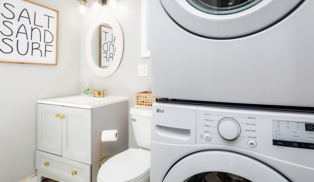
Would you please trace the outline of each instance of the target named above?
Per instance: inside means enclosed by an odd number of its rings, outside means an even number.
[[[127,182],[149,171],[150,150],[130,148],[110,158],[99,169],[102,182]]]

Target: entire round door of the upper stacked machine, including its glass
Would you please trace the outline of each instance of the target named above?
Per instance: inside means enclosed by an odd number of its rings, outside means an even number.
[[[160,0],[181,27],[212,39],[233,39],[279,22],[303,0]]]

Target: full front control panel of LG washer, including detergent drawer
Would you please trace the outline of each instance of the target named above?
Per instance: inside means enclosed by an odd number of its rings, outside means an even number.
[[[158,102],[153,111],[154,142],[253,152],[314,168],[313,113]]]

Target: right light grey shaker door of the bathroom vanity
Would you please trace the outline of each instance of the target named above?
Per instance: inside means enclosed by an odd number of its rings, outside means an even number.
[[[62,157],[91,164],[91,109],[62,107]]]

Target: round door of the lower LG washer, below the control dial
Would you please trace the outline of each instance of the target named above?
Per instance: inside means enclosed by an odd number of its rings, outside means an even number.
[[[163,182],[290,182],[263,162],[224,150],[196,152],[179,160]]]

